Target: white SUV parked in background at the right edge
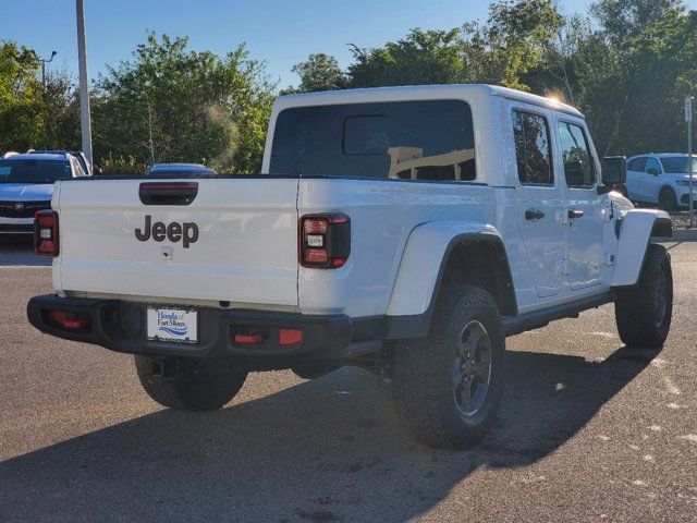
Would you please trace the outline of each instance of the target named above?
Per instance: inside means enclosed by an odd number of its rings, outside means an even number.
[[[693,172],[697,185],[697,156],[693,157]],[[629,158],[627,195],[633,202],[658,204],[664,210],[689,207],[688,155],[651,153]]]

